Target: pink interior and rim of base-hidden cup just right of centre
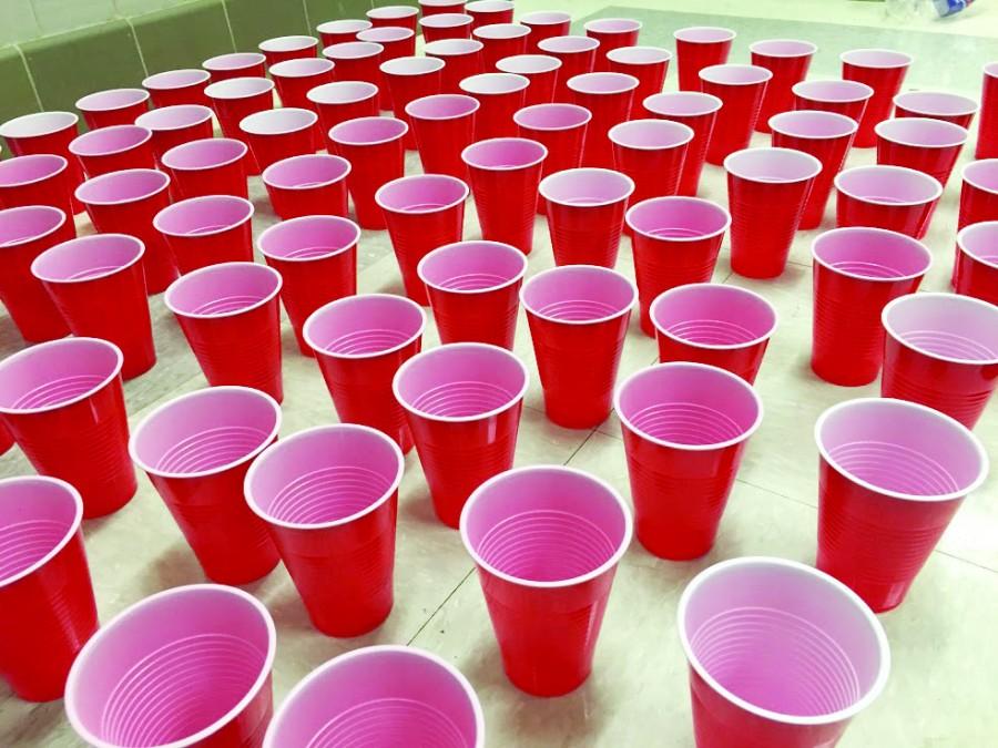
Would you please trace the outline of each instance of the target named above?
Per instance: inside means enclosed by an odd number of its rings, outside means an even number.
[[[655,329],[703,348],[741,348],[776,329],[776,310],[762,296],[737,286],[690,284],[661,294],[652,304]]]

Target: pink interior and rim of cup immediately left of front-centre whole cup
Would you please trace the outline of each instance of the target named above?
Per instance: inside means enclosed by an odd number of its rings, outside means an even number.
[[[379,431],[338,423],[269,447],[246,475],[246,500],[269,521],[323,525],[386,501],[398,488],[403,455]]]

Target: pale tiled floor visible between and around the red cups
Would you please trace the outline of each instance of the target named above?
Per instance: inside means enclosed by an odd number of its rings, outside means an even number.
[[[521,10],[554,3],[520,0]],[[600,7],[599,0],[577,0],[579,17]],[[638,6],[659,6],[637,0]],[[874,3],[753,3],[716,0],[715,12],[741,12],[747,6],[757,16],[782,12],[798,16],[818,7],[824,21],[876,25],[883,8]],[[798,7],[800,6],[800,7]],[[833,8],[834,7],[834,8]],[[846,17],[844,8],[855,11]],[[879,12],[880,16],[875,16]],[[604,14],[611,14],[609,11]],[[622,14],[614,11],[613,14]],[[990,33],[992,25],[967,28],[961,21],[949,31]],[[740,28],[740,19],[730,19]],[[919,25],[913,22],[909,25]],[[963,24],[963,25],[960,25]],[[742,22],[765,27],[757,19]],[[671,29],[668,30],[671,33]],[[656,33],[662,33],[658,29]],[[807,37],[806,25],[800,30]],[[848,34],[844,34],[848,39]],[[745,38],[745,43],[751,41]],[[823,50],[834,54],[837,50]],[[940,60],[946,53],[939,50]],[[674,86],[674,79],[670,85]],[[965,89],[972,89],[970,81]],[[755,145],[767,144],[756,136]],[[854,152],[851,164],[869,163],[870,151]],[[418,171],[410,155],[409,171]],[[936,264],[927,289],[946,287],[953,252],[958,185],[950,184],[933,229],[926,238]],[[726,202],[723,174],[707,167],[703,195]],[[253,185],[257,206],[255,230],[275,218],[258,184]],[[478,236],[473,205],[467,212],[466,236]],[[832,226],[831,213],[824,228]],[[89,230],[81,224],[81,230]],[[538,219],[530,274],[552,265],[543,219]],[[488,616],[472,574],[472,564],[456,532],[432,518],[429,499],[415,452],[409,455],[400,491],[396,605],[391,616],[368,636],[350,641],[327,638],[314,631],[283,567],[247,588],[257,595],[277,621],[278,654],[274,688],[279,703],[306,673],[342,652],[374,643],[408,643],[445,656],[476,687],[486,711],[488,745],[550,748],[553,746],[666,746],[693,745],[686,674],[675,632],[675,605],[685,583],[700,570],[721,559],[771,554],[812,562],[815,551],[816,449],[815,418],[842,400],[877,393],[877,386],[843,389],[818,381],[807,366],[811,341],[809,244],[817,232],[798,235],[792,263],[777,280],[748,281],[732,276],[726,245],[714,279],[762,293],[777,307],[780,327],[763,365],[757,387],[765,403],[762,428],[751,440],[739,481],[731,496],[721,535],[713,552],[693,563],[659,561],[634,543],[617,576],[610,607],[597,649],[595,669],[576,693],[557,699],[538,699],[512,688],[502,675]],[[361,291],[400,293],[395,257],[384,233],[366,232],[360,244]],[[630,248],[621,252],[619,269],[633,273]],[[181,392],[204,386],[204,380],[175,322],[161,298],[152,300],[160,363],[149,375],[125,387],[132,423],[152,407]],[[429,325],[425,345],[436,345]],[[20,347],[10,320],[0,317],[0,356]],[[532,385],[523,411],[517,464],[564,463],[591,471],[628,495],[623,444],[619,424],[611,417],[592,432],[569,431],[549,423],[542,412],[540,387],[526,321],[520,319],[516,352],[529,362]],[[284,434],[308,426],[332,422],[335,413],[318,368],[296,351],[291,330],[284,336]],[[624,347],[621,375],[655,359],[653,342],[632,320]],[[977,429],[992,460],[998,459],[998,406],[991,407]],[[0,459],[0,475],[29,472],[13,450]],[[166,513],[155,491],[143,478],[135,499],[115,515],[88,522],[84,532],[101,617],[165,587],[203,581],[193,555]],[[998,716],[992,707],[998,646],[998,478],[968,499],[933,554],[908,601],[882,617],[890,639],[894,669],[887,690],[851,727],[843,748],[950,748],[994,745]],[[30,705],[13,698],[0,685],[0,747],[79,745],[62,713],[61,701]]]

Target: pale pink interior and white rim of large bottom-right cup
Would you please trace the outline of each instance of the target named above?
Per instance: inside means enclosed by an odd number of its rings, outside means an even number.
[[[782,560],[740,559],[702,572],[683,594],[679,625],[697,672],[729,700],[776,721],[858,707],[889,669],[868,608],[831,577]]]

